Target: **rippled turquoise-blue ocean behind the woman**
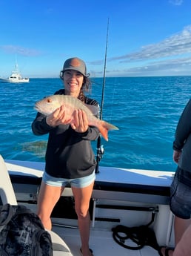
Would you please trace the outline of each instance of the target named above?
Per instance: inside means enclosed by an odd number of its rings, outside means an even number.
[[[92,78],[88,96],[101,105],[102,78]],[[31,123],[38,99],[63,88],[60,79],[0,83],[0,154],[8,160],[44,161],[47,135],[35,136]],[[175,128],[191,95],[191,76],[106,78],[102,118],[118,126],[101,138],[99,165],[175,171],[172,142]],[[93,142],[96,154],[96,142]]]

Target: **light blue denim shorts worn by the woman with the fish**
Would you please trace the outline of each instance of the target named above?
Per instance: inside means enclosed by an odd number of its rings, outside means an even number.
[[[90,184],[92,184],[95,179],[96,179],[95,171],[93,171],[92,174],[86,177],[81,177],[76,179],[63,179],[63,178],[53,177],[47,174],[45,171],[42,176],[42,181],[45,184],[54,186],[54,187],[65,187],[67,185],[70,185],[71,187],[75,187],[75,188],[85,188],[87,186],[90,186]]]

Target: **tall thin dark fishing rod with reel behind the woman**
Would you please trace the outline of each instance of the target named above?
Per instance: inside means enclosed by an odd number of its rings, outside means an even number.
[[[109,18],[107,20],[107,37],[106,37],[106,47],[105,47],[105,59],[104,59],[104,78],[103,78],[103,85],[102,85],[102,94],[101,94],[101,108],[100,108],[100,116],[99,118],[102,119],[103,107],[104,107],[104,87],[105,87],[105,73],[106,73],[106,62],[107,62],[107,44],[108,44],[108,33],[109,33]],[[96,174],[99,172],[99,162],[104,154],[104,146],[101,145],[101,136],[98,137],[97,140],[97,155],[96,155]]]

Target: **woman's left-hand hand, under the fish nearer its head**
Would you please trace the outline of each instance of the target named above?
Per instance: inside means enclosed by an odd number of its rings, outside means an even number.
[[[67,125],[71,122],[71,119],[68,119],[65,111],[64,105],[60,108],[57,108],[52,114],[46,117],[47,125],[57,126],[57,125]]]

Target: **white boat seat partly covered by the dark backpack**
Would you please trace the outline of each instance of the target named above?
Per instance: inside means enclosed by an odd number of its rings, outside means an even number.
[[[0,198],[1,198],[1,205],[9,203],[10,205],[18,205],[16,200],[16,194],[13,190],[13,186],[10,180],[10,175],[7,171],[7,166],[4,163],[3,157],[0,154]],[[70,252],[70,248],[53,231],[49,231],[51,240],[53,243],[53,256],[73,256]]]

